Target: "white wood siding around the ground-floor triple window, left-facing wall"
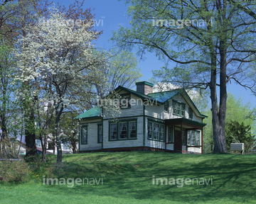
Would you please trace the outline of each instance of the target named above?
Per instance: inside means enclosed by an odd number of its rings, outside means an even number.
[[[143,117],[137,118],[137,139],[109,141],[109,123],[110,120],[103,120],[103,149],[120,148],[120,147],[142,147],[143,146]],[[127,118],[119,118],[119,120]],[[131,119],[132,120],[132,119]]]

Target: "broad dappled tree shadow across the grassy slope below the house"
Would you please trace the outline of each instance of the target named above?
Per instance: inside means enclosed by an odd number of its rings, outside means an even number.
[[[73,188],[45,186],[48,192],[56,195],[71,193],[181,203],[215,203],[221,199],[227,203],[250,203],[255,200],[256,155],[100,152],[63,158],[67,162],[55,171],[58,178],[103,179],[103,182],[102,185],[84,183]],[[154,179],[164,178],[168,181],[183,179],[183,185],[181,180],[176,185],[165,185],[165,182],[154,185]],[[187,185],[185,179],[195,179],[195,182]]]

